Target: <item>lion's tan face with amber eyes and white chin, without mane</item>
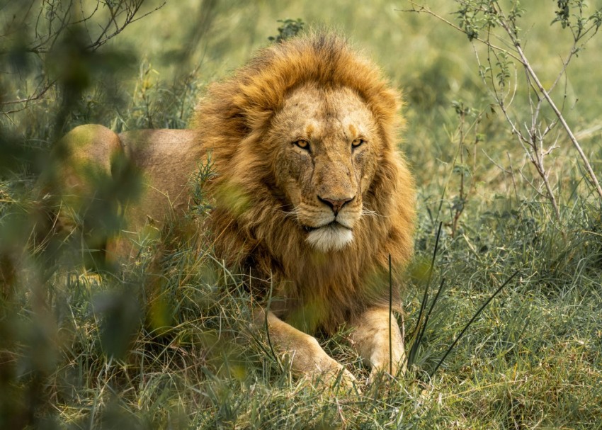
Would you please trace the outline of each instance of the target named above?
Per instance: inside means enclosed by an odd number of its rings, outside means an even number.
[[[307,242],[343,249],[363,214],[381,145],[377,122],[351,89],[297,88],[269,135],[273,171]]]

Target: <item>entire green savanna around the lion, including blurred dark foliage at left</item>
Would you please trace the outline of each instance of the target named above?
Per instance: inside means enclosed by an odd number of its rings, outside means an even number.
[[[72,3],[72,16],[96,6]],[[101,2],[53,45],[36,40],[69,1],[0,3],[0,429],[602,429],[602,196],[550,106],[538,110],[533,78],[478,40],[512,52],[503,29],[486,39],[478,14],[458,13],[489,2],[425,0],[465,31],[481,26],[472,43],[429,13],[404,11],[419,9],[409,1],[288,3],[168,1],[153,11],[161,3],[146,1],[138,16],[152,13],[98,46],[99,23],[119,1]],[[512,16],[516,2],[500,3]],[[574,18],[581,1],[522,3],[511,22],[545,88],[579,25],[594,26],[550,96],[600,179],[600,21]],[[583,16],[601,6],[589,1]],[[45,235],[48,203],[35,191],[52,176],[52,145],[76,125],[186,128],[208,84],[271,43],[285,18],[343,33],[404,94],[399,148],[419,213],[416,257],[399,280],[409,371],[368,385],[344,327],[322,341],[361,392],[293,378],[249,329],[243,276],[190,229],[174,227],[178,239],[144,230],[135,262],[103,264],[76,235]],[[492,88],[509,94],[503,107]],[[545,154],[553,202],[506,115]],[[128,172],[97,186],[117,200],[134,195]],[[186,222],[208,216],[208,172],[198,176]],[[102,232],[118,228],[96,210],[82,216]]]

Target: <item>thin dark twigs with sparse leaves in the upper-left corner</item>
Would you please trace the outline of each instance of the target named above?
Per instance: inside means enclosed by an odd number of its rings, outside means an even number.
[[[0,111],[4,114],[22,111],[33,101],[47,96],[58,81],[60,73],[52,69],[52,57],[62,49],[65,38],[79,38],[80,55],[89,55],[115,38],[127,26],[161,9],[165,2],[142,13],[146,0],[29,0],[8,1],[4,6],[13,18],[0,29],[0,62],[7,78],[25,81],[23,86],[8,91],[10,85],[0,83]],[[92,5],[92,6],[90,6]],[[37,67],[32,67],[32,64]],[[27,77],[33,75],[37,83],[28,90]],[[6,79],[6,78],[5,78]],[[18,96],[25,92],[25,96]],[[13,96],[6,96],[13,93]],[[5,109],[6,106],[8,109]]]

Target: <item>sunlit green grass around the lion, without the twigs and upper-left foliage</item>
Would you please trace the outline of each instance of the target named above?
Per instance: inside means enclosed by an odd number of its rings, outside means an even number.
[[[449,2],[437,3],[441,13],[450,10],[443,9]],[[547,70],[558,69],[563,46],[562,33],[548,26],[549,3],[528,5],[535,9],[525,25],[534,65],[546,79]],[[499,115],[487,112],[490,101],[466,38],[426,16],[397,11],[407,7],[403,1],[220,3],[200,43],[182,59],[202,21],[198,4],[168,4],[115,38],[110,47],[131,47],[140,69],[123,72],[117,104],[91,91],[86,109],[67,125],[183,128],[205,86],[266,45],[277,19],[339,28],[382,64],[407,103],[400,146],[419,185],[416,259],[402,293],[408,341],[443,222],[431,284],[445,278],[445,290],[414,366],[405,378],[368,385],[369,370],[346,344],[343,327],[321,341],[358,377],[362,393],[314,390],[293,378],[265,333],[251,327],[258,304],[241,283],[245,275],[216,261],[203,237],[176,235],[198,228],[205,216],[199,190],[200,206],[183,226],[166,228],[161,242],[156,230],[141,232],[136,261],[100,276],[76,264],[77,237],[47,239],[47,251],[30,254],[25,242],[45,218],[31,191],[37,170],[28,167],[0,183],[0,427],[601,428],[601,205],[569,149],[560,149],[554,162],[561,220],[522,181],[521,150]],[[601,106],[594,95],[602,59],[592,53],[600,46],[592,40],[569,70],[567,87],[568,118],[584,132],[598,171]],[[455,100],[487,114],[467,133],[467,153],[477,161],[467,184],[475,188],[453,231],[460,189],[453,171]],[[35,106],[30,118],[3,118],[1,127],[45,154],[55,136],[54,102]],[[475,133],[484,140],[472,152]],[[492,162],[508,169],[509,154],[513,175]],[[433,373],[480,305],[515,271]]]

